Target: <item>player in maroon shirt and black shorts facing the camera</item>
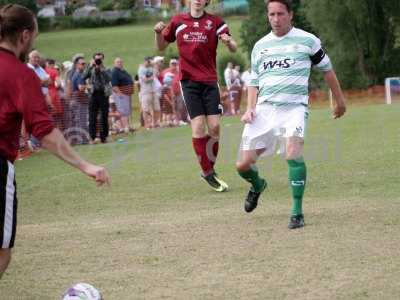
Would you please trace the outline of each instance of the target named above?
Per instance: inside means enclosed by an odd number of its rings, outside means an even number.
[[[214,171],[222,114],[216,56],[218,40],[231,52],[236,51],[237,45],[225,22],[205,12],[208,2],[191,0],[189,13],[172,17],[168,25],[157,23],[154,31],[159,50],[164,50],[169,43],[177,43],[181,87],[191,119],[193,148],[203,171],[202,177],[215,191],[223,192],[228,185]]]

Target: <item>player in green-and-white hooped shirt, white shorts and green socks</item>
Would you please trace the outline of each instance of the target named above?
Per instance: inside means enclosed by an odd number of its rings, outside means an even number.
[[[289,228],[304,226],[302,200],[306,185],[306,165],[302,156],[308,120],[308,82],[311,69],[324,73],[336,105],[334,118],[346,110],[345,100],[321,41],[313,34],[291,25],[290,0],[266,1],[272,31],[260,39],[251,55],[246,124],[241,143],[238,173],[251,183],[245,200],[246,212],[254,210],[267,181],[255,166],[261,155],[280,150],[289,166],[292,213]]]

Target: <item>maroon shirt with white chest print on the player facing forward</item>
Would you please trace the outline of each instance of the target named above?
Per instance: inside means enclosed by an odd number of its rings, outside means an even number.
[[[225,22],[206,12],[200,18],[190,13],[172,17],[162,34],[167,42],[177,42],[181,80],[217,81],[217,46],[223,33],[229,34]]]

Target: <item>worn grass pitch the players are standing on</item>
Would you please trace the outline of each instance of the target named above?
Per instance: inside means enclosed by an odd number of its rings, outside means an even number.
[[[58,299],[75,282],[107,300],[398,299],[400,105],[313,109],[306,158],[307,226],[289,231],[286,163],[262,160],[260,206],[243,211],[234,170],[242,125],[225,118],[217,169],[199,178],[190,130],[139,132],[76,149],[106,165],[110,188],[45,151],[16,163],[19,227],[0,299]]]

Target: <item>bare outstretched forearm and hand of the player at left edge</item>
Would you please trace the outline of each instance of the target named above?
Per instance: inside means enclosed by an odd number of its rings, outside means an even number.
[[[81,170],[84,174],[96,180],[97,185],[110,184],[110,177],[103,167],[93,165],[83,160],[64,139],[62,133],[54,128],[41,139],[42,146],[52,154],[58,156],[71,166]]]

